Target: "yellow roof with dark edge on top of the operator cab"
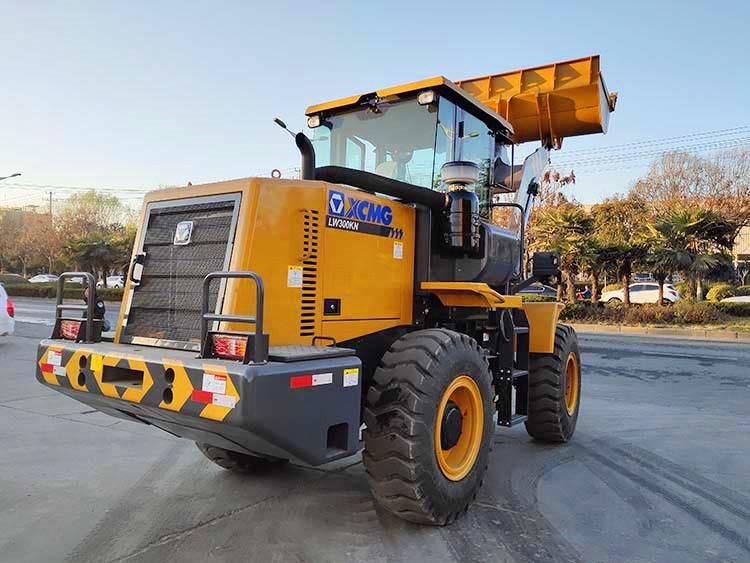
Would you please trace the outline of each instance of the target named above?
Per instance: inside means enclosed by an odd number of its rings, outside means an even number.
[[[471,113],[474,113],[477,118],[484,121],[491,129],[500,130],[509,138],[512,137],[513,126],[508,120],[490,110],[474,97],[468,95],[464,90],[448,80],[445,76],[433,76],[432,78],[426,78],[416,82],[408,82],[398,86],[391,86],[390,88],[383,88],[374,92],[357,94],[330,102],[315,104],[305,110],[305,115],[310,116],[318,113],[328,113],[357,107],[363,101],[373,97],[387,98],[389,96],[403,96],[411,93],[417,94],[418,92],[430,89],[435,90],[439,95],[448,98],[460,107],[471,110]]]

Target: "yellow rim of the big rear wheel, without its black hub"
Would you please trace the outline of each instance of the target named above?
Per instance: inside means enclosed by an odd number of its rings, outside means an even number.
[[[461,435],[453,447],[443,449],[440,437],[448,401],[452,401],[461,411]],[[483,432],[482,394],[471,377],[459,375],[443,393],[435,420],[435,455],[447,479],[460,481],[468,475],[479,455]]]

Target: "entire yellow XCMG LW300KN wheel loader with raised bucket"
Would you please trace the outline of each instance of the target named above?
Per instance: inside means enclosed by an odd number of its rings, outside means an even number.
[[[448,524],[495,426],[575,431],[576,335],[561,304],[517,295],[558,258],[524,259],[524,226],[550,149],[605,131],[614,103],[593,56],[312,106],[301,179],[146,196],[113,337],[95,299],[63,301],[93,276],[61,276],[37,379],[232,471],[364,447],[383,508]],[[541,146],[515,165],[527,141]]]

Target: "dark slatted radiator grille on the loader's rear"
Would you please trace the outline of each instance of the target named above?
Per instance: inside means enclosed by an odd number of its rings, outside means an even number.
[[[201,291],[209,272],[225,269],[236,198],[151,209],[143,240],[146,259],[125,326],[126,337],[199,342]],[[193,222],[192,239],[175,245],[177,224]],[[220,284],[211,288],[210,310]]]

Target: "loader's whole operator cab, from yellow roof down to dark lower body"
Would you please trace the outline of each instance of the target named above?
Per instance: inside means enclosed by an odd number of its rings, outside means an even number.
[[[417,239],[425,247],[417,253],[418,280],[484,282],[508,291],[519,278],[522,215],[530,198],[518,189],[522,167],[513,166],[508,121],[444,77],[312,106],[306,113],[316,170],[344,171],[334,181],[378,192],[375,180],[386,178],[446,194],[450,204],[443,213],[417,205]],[[503,194],[510,194],[505,204],[516,209],[497,208]]]

